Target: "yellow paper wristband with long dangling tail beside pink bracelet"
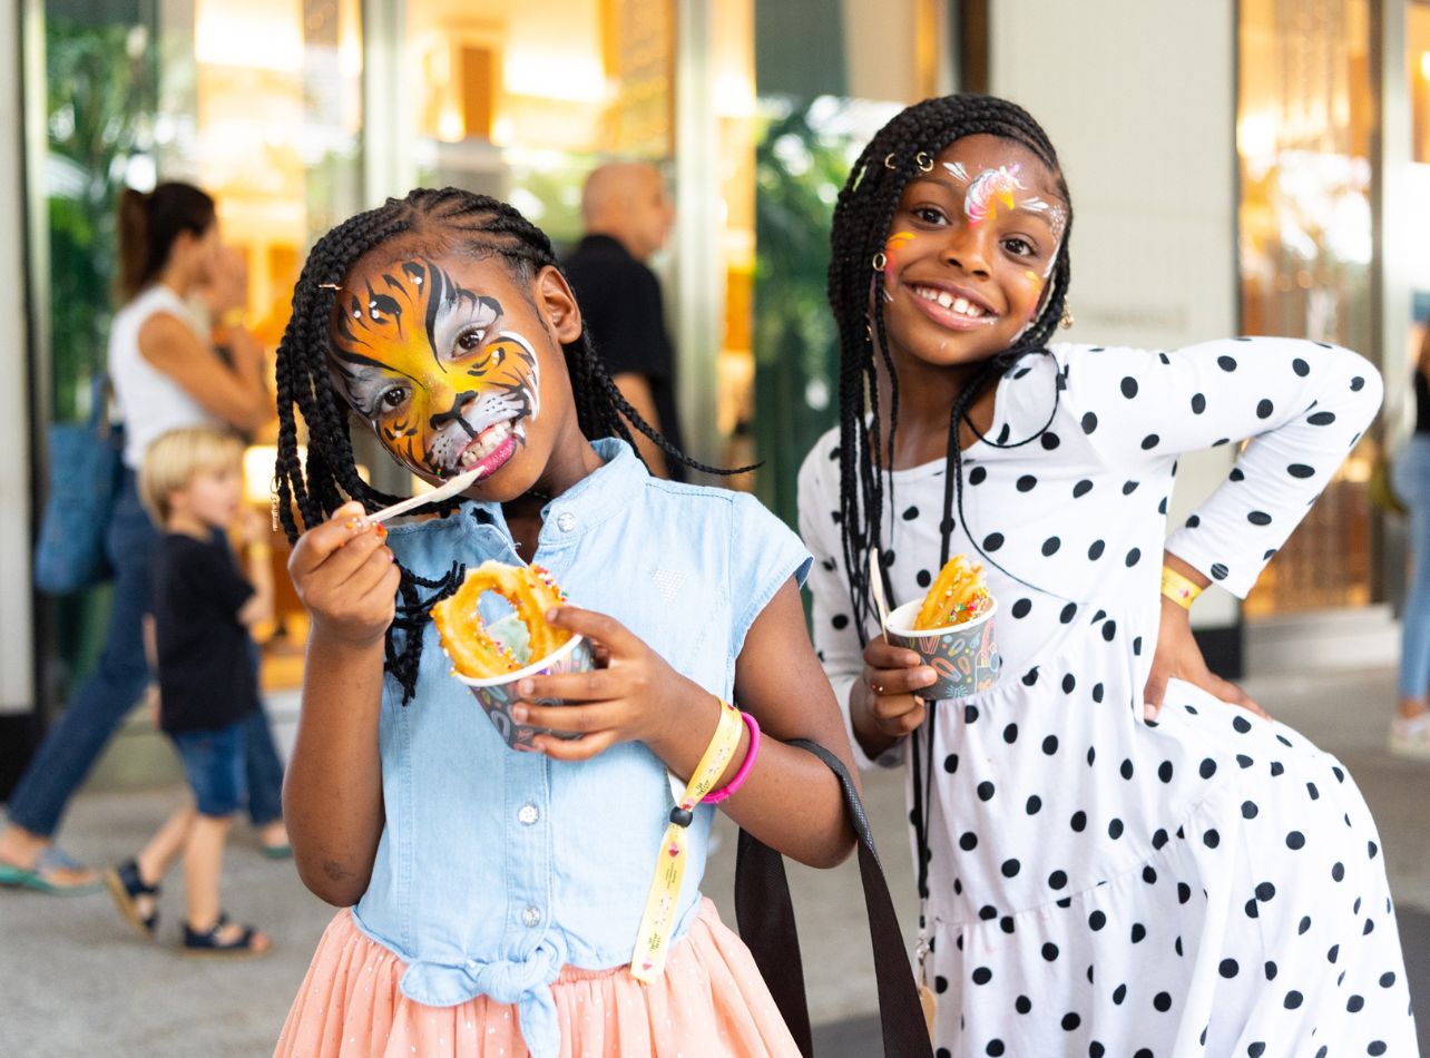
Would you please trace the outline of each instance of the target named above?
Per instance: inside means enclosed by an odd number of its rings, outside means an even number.
[[[671,919],[681,902],[681,881],[685,878],[685,831],[691,825],[695,806],[715,789],[731,758],[739,748],[745,725],[739,709],[729,702],[719,703],[719,723],[695,766],[681,802],[671,809],[671,824],[661,838],[661,852],[651,879],[651,895],[645,899],[641,932],[636,934],[631,955],[631,977],[651,984],[665,972],[665,955],[671,944]]]

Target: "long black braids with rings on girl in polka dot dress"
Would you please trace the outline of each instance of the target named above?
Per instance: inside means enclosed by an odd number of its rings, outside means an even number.
[[[1058,193],[1068,203],[1067,223],[1058,244],[1052,272],[1038,317],[1018,336],[1014,345],[985,360],[970,377],[968,385],[954,399],[948,420],[948,455],[944,472],[944,513],[941,522],[942,555],[948,560],[948,536],[952,530],[952,510],[957,506],[962,520],[962,452],[958,425],[967,422],[968,409],[978,395],[1028,353],[1047,355],[1047,343],[1062,317],[1071,264],[1068,239],[1072,232],[1071,197],[1058,166],[1057,152],[1047,133],[1028,112],[1015,103],[994,96],[944,96],[917,103],[885,124],[859,154],[844,190],[834,207],[829,234],[829,307],[839,327],[839,532],[844,548],[844,569],[849,578],[849,602],[854,625],[864,639],[865,619],[872,618],[869,586],[869,556],[881,548],[881,523],[885,486],[892,488],[892,465],[885,465],[884,416],[888,415],[892,452],[892,430],[898,425],[898,376],[888,352],[884,329],[884,299],[872,297],[878,275],[874,257],[884,250],[889,224],[898,209],[905,184],[927,167],[948,144],[965,136],[991,134],[1012,140],[1047,166],[1057,182]],[[872,300],[872,303],[871,303]],[[875,353],[878,350],[878,353]],[[878,359],[877,359],[878,357]],[[879,405],[878,363],[882,362],[889,379],[889,407]],[[1062,389],[1058,376],[1057,387]],[[1055,399],[1055,397],[1054,397]],[[1055,405],[1054,405],[1055,410]],[[1050,416],[1051,422],[1051,416]],[[1032,436],[1008,442],[978,436],[997,448],[1017,448],[1037,439]],[[971,535],[970,535],[970,539]],[[1002,572],[984,549],[974,548]],[[1010,573],[1010,576],[1012,576]],[[1020,579],[1020,578],[1015,578]]]

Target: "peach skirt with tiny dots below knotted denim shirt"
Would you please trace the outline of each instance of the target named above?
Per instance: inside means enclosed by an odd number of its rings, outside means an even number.
[[[398,989],[406,964],[340,911],[323,932],[276,1058],[523,1058],[516,1009],[482,995],[425,1007]],[[798,1058],[749,951],[705,901],[665,977],[566,966],[552,985],[561,1058]]]

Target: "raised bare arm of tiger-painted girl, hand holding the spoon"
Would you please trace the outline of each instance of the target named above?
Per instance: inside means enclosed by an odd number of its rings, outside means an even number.
[[[299,539],[289,572],[312,613],[303,711],[283,781],[283,819],[303,884],[337,906],[368,889],[382,836],[383,635],[399,572],[356,503]],[[350,528],[352,526],[352,528]]]

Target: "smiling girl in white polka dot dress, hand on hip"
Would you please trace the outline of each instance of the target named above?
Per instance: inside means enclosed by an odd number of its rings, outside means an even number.
[[[1364,801],[1207,672],[1170,598],[1247,593],[1380,377],[1288,339],[1050,345],[1071,220],[1041,127],[971,96],[889,122],[835,209],[841,425],[801,526],[855,743],[909,765],[937,1054],[1414,1054]],[[1178,455],[1244,437],[1164,539]],[[992,689],[915,696],[935,675],[878,635],[875,550],[891,606],[950,553],[982,562]]]

